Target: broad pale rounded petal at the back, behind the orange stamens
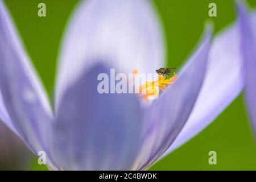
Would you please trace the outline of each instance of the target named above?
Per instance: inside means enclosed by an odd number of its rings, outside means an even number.
[[[150,1],[82,1],[75,11],[60,53],[56,105],[68,85],[95,61],[124,73],[163,67],[162,32]]]

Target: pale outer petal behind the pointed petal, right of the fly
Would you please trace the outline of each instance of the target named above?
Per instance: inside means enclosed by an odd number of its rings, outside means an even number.
[[[191,115],[165,155],[207,127],[240,94],[244,86],[238,24],[218,35],[209,53],[209,67]]]

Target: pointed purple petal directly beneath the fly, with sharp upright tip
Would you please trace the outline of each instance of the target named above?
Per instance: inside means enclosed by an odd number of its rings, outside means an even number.
[[[174,142],[187,121],[204,80],[211,34],[208,30],[197,51],[177,74],[175,84],[147,110],[143,146],[135,169],[145,169],[154,163]]]

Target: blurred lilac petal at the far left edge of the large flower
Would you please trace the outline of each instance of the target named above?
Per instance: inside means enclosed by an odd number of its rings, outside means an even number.
[[[9,125],[9,118],[3,122],[10,128],[15,127],[19,136],[35,154],[40,150],[47,152],[47,130],[53,115],[46,94],[19,42],[2,1],[0,57],[0,89],[13,125]]]

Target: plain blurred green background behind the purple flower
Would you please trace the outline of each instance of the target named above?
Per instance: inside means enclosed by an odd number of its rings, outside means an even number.
[[[56,59],[64,28],[78,0],[6,0],[49,97],[52,97]],[[47,17],[40,18],[38,4],[46,3]],[[167,44],[167,64],[180,67],[195,48],[206,20],[214,22],[215,33],[236,19],[232,0],[155,0],[163,22]],[[208,16],[210,2],[217,4],[217,17]],[[250,7],[255,0],[247,1]],[[224,73],[225,76],[225,73]],[[210,97],[210,96],[209,96]],[[217,152],[217,165],[209,165],[208,152]],[[44,170],[33,163],[27,169]],[[240,95],[222,114],[196,137],[185,143],[151,170],[256,170],[256,147],[249,119]]]

